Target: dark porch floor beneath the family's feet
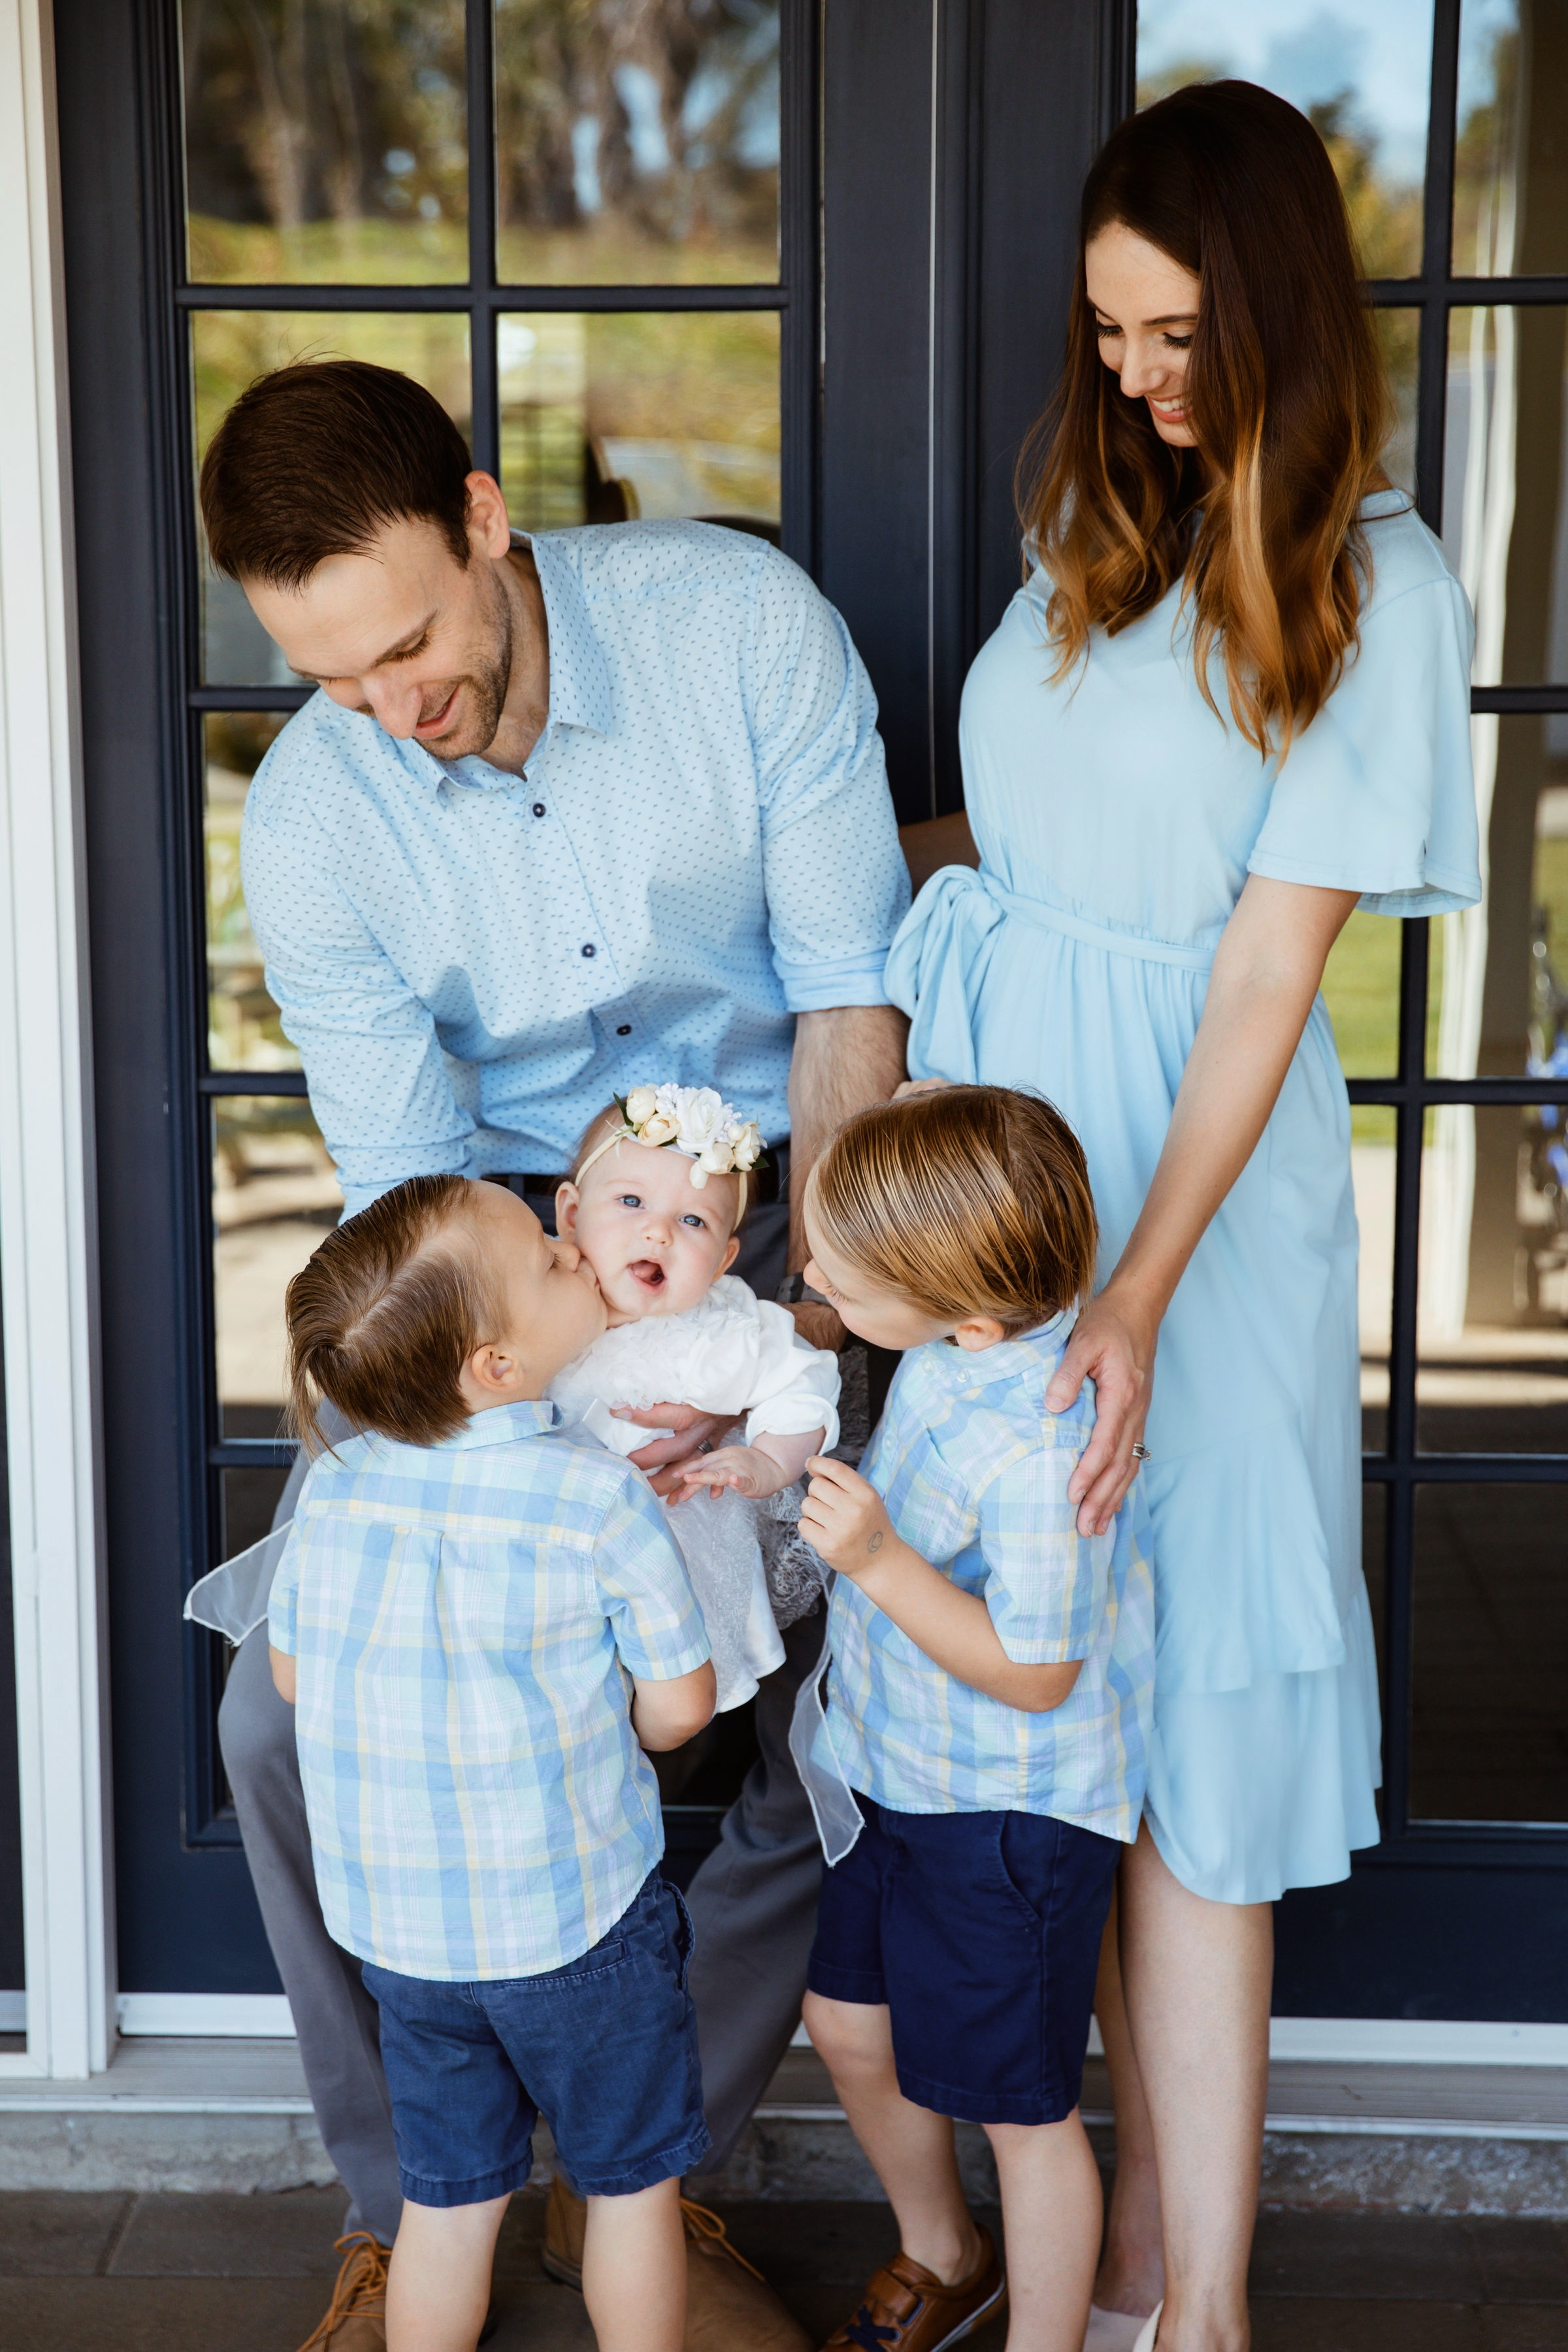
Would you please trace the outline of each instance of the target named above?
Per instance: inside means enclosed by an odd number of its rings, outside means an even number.
[[[879,2204],[722,2211],[818,2340],[893,2249]],[[341,2213],[341,2190],[0,2194],[0,2352],[294,2352],[324,2310]],[[581,2298],[538,2267],[541,2227],[543,2199],[512,2199],[491,2352],[592,2352]],[[1269,2213],[1253,2326],[1255,2352],[1568,2352],[1568,2223]],[[971,2343],[1001,2352],[1004,2336]]]

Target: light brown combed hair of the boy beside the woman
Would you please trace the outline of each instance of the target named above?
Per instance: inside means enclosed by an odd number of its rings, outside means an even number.
[[[945,1087],[839,1127],[806,1209],[830,1247],[936,1322],[1009,1338],[1088,1298],[1100,1247],[1084,1148],[1011,1087]]]

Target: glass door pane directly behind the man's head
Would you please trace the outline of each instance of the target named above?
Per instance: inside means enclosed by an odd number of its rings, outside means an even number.
[[[400,367],[468,433],[468,318],[451,313],[197,310],[190,320],[195,463],[247,383],[287,360],[369,360]],[[237,581],[202,562],[202,680],[289,687],[294,673],[244,602]]]

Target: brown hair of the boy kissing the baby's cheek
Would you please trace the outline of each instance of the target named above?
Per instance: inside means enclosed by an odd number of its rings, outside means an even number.
[[[463,1364],[494,1338],[494,1312],[475,1254],[456,1235],[440,1242],[470,1190],[465,1176],[409,1176],[294,1275],[289,1421],[306,1454],[324,1444],[320,1397],[407,1446],[437,1446],[468,1421]]]

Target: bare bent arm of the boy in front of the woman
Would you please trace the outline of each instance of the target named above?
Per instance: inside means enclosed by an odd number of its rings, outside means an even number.
[[[893,1618],[898,1632],[924,1649],[954,1682],[999,1698],[1023,1715],[1048,1715],[1072,1696],[1081,1658],[1067,1665],[1020,1665],[1001,1646],[978,1592],[931,1566],[903,1541],[886,1503],[858,1470],[830,1454],[811,1463],[811,1491],[799,1515],[806,1536],[839,1576],[853,1576],[867,1599]]]

